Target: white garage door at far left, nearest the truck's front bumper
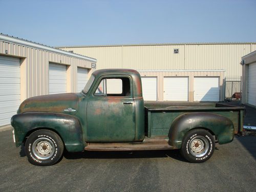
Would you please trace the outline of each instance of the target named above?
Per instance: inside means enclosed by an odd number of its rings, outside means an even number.
[[[0,126],[10,124],[20,104],[19,58],[0,56]]]

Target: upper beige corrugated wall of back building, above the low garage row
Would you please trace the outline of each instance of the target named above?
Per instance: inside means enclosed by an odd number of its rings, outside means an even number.
[[[97,69],[226,70],[225,77],[240,77],[241,57],[256,50],[255,43],[69,47],[74,53],[97,58]],[[179,49],[175,54],[174,49]]]

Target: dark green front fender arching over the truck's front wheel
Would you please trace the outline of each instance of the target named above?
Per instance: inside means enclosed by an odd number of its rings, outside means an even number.
[[[12,117],[16,146],[24,141],[26,135],[33,130],[51,129],[59,134],[69,152],[81,152],[85,143],[82,139],[80,121],[68,114],[49,112],[28,112]]]

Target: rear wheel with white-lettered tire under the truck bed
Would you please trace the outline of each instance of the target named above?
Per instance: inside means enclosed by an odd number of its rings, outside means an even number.
[[[181,154],[189,162],[201,163],[212,156],[214,149],[214,137],[206,130],[195,129],[184,136]]]

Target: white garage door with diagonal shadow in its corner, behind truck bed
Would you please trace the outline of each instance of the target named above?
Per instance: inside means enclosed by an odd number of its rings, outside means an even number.
[[[219,77],[195,77],[194,101],[220,101]]]

